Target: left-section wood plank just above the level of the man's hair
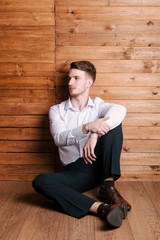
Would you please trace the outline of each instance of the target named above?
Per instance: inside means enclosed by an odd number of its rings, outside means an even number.
[[[33,63],[51,63],[54,62],[54,50],[50,52],[39,51],[1,51],[0,52],[0,62],[8,62],[8,63],[17,63],[17,62],[33,62]]]

